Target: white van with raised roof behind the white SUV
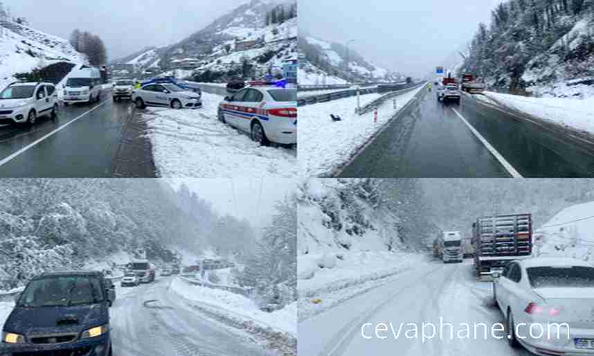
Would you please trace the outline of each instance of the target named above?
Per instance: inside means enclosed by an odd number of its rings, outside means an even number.
[[[99,101],[101,84],[102,79],[99,69],[83,66],[66,80],[66,84],[64,85],[64,105]]]

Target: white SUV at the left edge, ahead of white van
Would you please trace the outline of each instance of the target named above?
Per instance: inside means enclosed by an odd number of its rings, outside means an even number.
[[[0,121],[35,123],[42,115],[57,115],[55,85],[44,82],[16,82],[0,93]]]

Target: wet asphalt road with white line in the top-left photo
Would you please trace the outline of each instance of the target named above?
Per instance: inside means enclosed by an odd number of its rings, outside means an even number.
[[[114,172],[134,110],[129,100],[113,102],[107,90],[100,103],[60,106],[54,120],[0,127],[0,177],[121,176]]]

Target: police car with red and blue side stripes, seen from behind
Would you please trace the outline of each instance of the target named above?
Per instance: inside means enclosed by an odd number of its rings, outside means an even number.
[[[219,121],[247,132],[262,145],[297,143],[297,90],[270,82],[247,84],[219,104]]]

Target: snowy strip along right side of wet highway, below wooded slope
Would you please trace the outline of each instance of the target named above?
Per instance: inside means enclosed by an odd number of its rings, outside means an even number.
[[[594,134],[594,97],[578,100],[569,98],[526,98],[491,91],[485,91],[484,94],[487,98],[496,100],[500,105],[505,105],[545,121]]]

